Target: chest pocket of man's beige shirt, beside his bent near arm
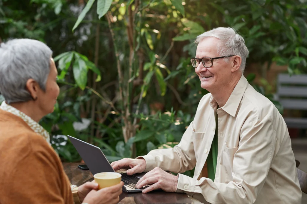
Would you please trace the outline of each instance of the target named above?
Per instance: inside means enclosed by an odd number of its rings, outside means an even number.
[[[235,153],[239,149],[238,147],[228,148],[226,143],[224,144],[224,150],[221,154],[220,167],[223,169],[223,182],[228,183],[232,180],[232,167],[233,167],[233,159],[235,157]],[[221,180],[221,181],[222,181]]]

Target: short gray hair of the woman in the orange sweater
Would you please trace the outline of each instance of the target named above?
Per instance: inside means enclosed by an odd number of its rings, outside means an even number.
[[[0,45],[0,93],[7,103],[26,102],[32,96],[26,88],[29,79],[45,91],[52,50],[33,39],[13,39]]]

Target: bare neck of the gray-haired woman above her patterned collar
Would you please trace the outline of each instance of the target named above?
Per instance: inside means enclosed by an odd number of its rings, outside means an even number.
[[[43,117],[38,106],[34,104],[33,101],[11,103],[10,106],[13,106],[14,108],[21,111],[22,113],[25,113],[27,116],[32,118],[32,120],[37,123]]]

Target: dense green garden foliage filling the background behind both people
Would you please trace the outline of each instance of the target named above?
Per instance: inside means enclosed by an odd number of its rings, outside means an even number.
[[[71,135],[115,161],[180,141],[208,93],[190,65],[193,41],[212,28],[244,37],[244,75],[282,113],[270,69],[307,72],[306,20],[305,0],[0,0],[0,42],[53,50],[60,96],[40,123],[61,159],[81,160]]]

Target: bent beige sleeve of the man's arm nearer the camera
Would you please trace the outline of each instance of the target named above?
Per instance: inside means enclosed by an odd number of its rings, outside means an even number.
[[[273,160],[277,143],[270,117],[243,124],[239,148],[234,155],[232,177],[229,183],[214,183],[180,174],[178,191],[184,191],[200,202],[212,204],[252,204],[262,189]]]

